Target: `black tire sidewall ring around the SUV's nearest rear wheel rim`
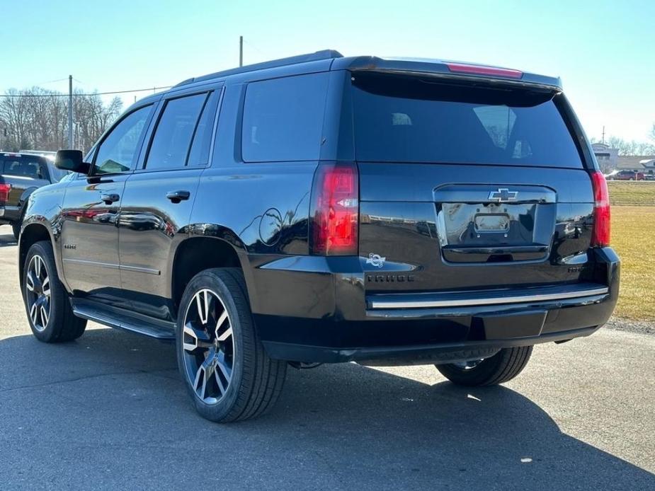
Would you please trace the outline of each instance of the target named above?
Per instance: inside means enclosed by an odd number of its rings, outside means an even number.
[[[193,300],[193,296],[202,289],[210,289],[220,297],[224,307],[227,309],[229,315],[230,325],[232,325],[232,339],[234,341],[234,364],[232,366],[232,379],[230,380],[227,388],[227,393],[214,404],[207,404],[198,397],[193,388],[193,382],[189,380],[186,372],[186,366],[183,357],[183,327],[188,311],[189,304]],[[226,417],[230,410],[234,407],[239,396],[239,390],[243,384],[244,379],[244,335],[247,335],[247,330],[244,329],[244,322],[250,322],[250,319],[244,319],[239,315],[239,309],[234,302],[234,294],[240,292],[229,291],[227,286],[222,282],[220,277],[212,274],[210,271],[203,271],[198,273],[187,285],[180,302],[180,312],[176,326],[176,354],[178,359],[178,369],[182,376],[186,389],[193,399],[195,409],[198,410],[200,415],[209,420],[222,420]]]

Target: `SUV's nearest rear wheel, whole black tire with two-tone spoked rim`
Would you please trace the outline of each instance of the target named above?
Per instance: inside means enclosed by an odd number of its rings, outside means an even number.
[[[195,409],[214,422],[247,420],[273,407],[287,363],[264,351],[237,268],[195,275],[180,302],[178,368]]]

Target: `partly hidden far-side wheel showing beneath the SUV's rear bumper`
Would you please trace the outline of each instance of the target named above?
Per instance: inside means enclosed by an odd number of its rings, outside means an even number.
[[[446,379],[460,386],[494,386],[510,381],[525,368],[532,346],[503,348],[493,357],[435,365]]]

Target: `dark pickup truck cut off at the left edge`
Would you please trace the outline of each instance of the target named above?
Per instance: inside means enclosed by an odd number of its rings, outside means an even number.
[[[11,225],[18,238],[28,197],[66,174],[45,157],[0,152],[0,225]]]

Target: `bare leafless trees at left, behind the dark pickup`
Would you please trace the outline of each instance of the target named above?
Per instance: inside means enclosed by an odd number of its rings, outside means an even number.
[[[11,88],[0,97],[0,150],[67,149],[68,97],[33,87]],[[120,115],[123,101],[104,104],[98,94],[73,93],[73,144],[86,153]]]

